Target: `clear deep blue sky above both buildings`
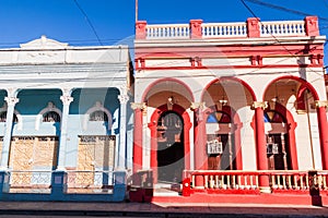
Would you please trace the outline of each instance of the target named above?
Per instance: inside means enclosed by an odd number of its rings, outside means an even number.
[[[136,0],[0,0],[0,48],[46,35],[71,46],[132,45]],[[138,20],[149,24],[303,20],[319,17],[328,37],[328,0],[138,0]],[[328,43],[327,43],[328,44]],[[325,46],[328,65],[328,45]]]

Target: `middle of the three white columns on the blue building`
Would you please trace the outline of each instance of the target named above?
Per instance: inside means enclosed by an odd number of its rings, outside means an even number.
[[[73,98],[69,95],[63,95],[60,97],[62,101],[62,113],[61,113],[61,126],[60,126],[60,140],[59,140],[59,154],[58,154],[58,166],[57,170],[65,170],[65,159],[66,159],[66,144],[67,144],[67,124],[68,116],[70,111],[70,104]]]

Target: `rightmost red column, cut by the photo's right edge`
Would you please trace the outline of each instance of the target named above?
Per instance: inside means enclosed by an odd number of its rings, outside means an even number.
[[[327,101],[316,101],[317,117],[318,117],[318,128],[321,147],[321,161],[323,170],[328,170],[328,128],[327,128],[327,116],[326,107]]]

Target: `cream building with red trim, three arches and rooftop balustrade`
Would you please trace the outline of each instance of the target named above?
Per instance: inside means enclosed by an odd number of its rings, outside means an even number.
[[[152,201],[176,183],[185,202],[327,198],[325,40],[316,16],[138,21],[133,172],[152,172]]]

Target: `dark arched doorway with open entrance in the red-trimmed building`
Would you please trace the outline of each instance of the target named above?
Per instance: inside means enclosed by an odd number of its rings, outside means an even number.
[[[175,111],[163,112],[157,121],[157,180],[180,182],[185,168],[184,120]]]

